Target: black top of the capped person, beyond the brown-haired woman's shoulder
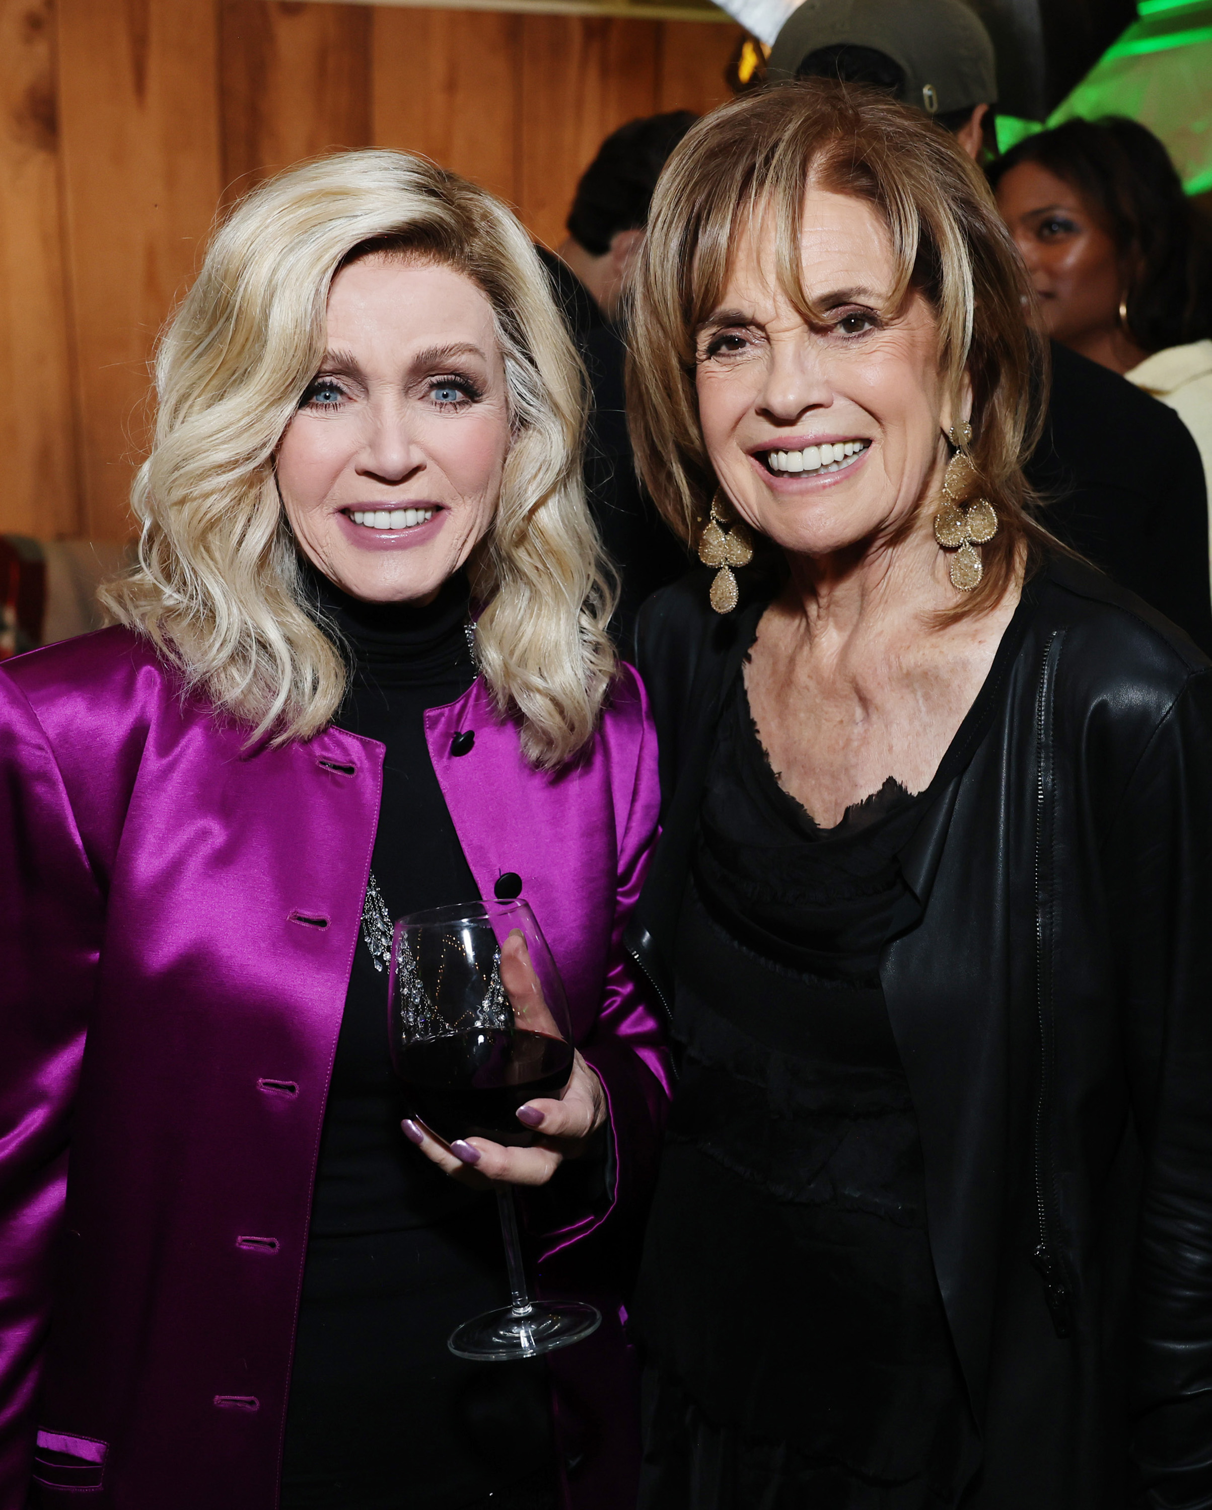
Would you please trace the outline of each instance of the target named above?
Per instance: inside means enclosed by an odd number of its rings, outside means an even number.
[[[1052,343],[1052,393],[1026,465],[1041,522],[1212,652],[1207,486],[1179,415]]]

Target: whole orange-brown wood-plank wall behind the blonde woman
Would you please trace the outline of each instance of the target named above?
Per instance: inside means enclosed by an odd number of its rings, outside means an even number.
[[[156,337],[216,207],[413,148],[558,245],[601,139],[727,94],[736,29],[301,0],[0,0],[0,530],[130,533]]]

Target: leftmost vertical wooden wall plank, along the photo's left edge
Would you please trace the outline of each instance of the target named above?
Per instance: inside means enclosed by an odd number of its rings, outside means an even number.
[[[82,525],[53,0],[0,0],[0,530]]]

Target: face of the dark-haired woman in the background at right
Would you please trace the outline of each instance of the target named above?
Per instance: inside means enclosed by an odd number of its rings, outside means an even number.
[[[1078,190],[1038,163],[1019,163],[997,183],[997,208],[1023,254],[1047,334],[1082,347],[1114,331],[1124,285],[1120,255]]]

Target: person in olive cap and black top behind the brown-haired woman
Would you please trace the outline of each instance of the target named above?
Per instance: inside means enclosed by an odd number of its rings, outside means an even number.
[[[996,154],[996,56],[963,0],[805,0],[775,38],[766,79],[813,77],[886,89],[949,130],[976,162]],[[1212,652],[1195,441],[1173,411],[1117,373],[1056,341],[1049,359],[1049,403],[1025,468],[1049,530]]]

